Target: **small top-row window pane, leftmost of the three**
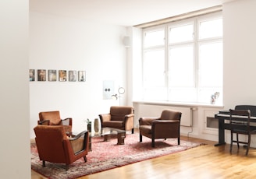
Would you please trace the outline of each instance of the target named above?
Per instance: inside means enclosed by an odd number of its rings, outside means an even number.
[[[165,44],[165,30],[157,30],[144,33],[144,47],[152,47]]]

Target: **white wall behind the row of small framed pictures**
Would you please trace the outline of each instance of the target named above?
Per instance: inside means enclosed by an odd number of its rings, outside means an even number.
[[[30,137],[40,111],[58,110],[73,118],[73,131],[85,130],[84,120],[108,113],[119,100],[103,100],[103,81],[113,80],[115,91],[126,89],[126,28],[82,19],[30,12],[30,68],[85,70],[86,82],[30,82]]]

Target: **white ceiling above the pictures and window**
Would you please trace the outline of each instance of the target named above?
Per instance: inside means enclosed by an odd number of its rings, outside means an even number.
[[[233,0],[30,0],[30,12],[134,26]]]

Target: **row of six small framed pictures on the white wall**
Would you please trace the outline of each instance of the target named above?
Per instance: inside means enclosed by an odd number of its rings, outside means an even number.
[[[77,81],[79,82],[85,82],[85,71],[77,71],[76,70],[59,70],[59,82],[66,82],[69,79],[69,82],[76,82],[76,76]],[[67,72],[69,72],[67,74]],[[37,75],[35,69],[30,69],[30,82],[34,82],[37,76],[37,81],[44,82],[46,81],[46,69],[37,69]],[[49,82],[56,82],[57,81],[57,70],[55,69],[48,69],[48,81]]]

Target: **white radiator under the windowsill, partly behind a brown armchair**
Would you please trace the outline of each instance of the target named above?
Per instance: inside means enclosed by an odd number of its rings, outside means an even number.
[[[138,117],[160,117],[161,113],[165,109],[176,110],[182,113],[180,125],[181,126],[192,126],[192,110],[191,107],[177,107],[169,105],[158,105],[158,104],[139,104],[135,113]]]

